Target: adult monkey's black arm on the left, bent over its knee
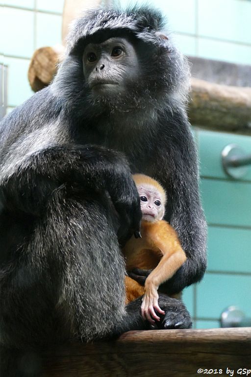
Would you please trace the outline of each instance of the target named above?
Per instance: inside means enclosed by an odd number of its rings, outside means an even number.
[[[13,165],[15,158],[11,156]],[[54,145],[31,154],[13,170],[10,166],[8,159],[2,162],[0,177],[0,199],[8,211],[41,215],[59,188],[77,197],[107,190],[120,215],[122,241],[128,230],[131,235],[140,228],[137,190],[126,160],[117,152],[91,145]]]

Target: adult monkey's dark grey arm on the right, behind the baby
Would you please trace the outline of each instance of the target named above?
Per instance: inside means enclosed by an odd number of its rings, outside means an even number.
[[[176,122],[172,128],[176,132],[173,134],[173,145],[166,157],[163,152],[165,146],[162,146],[163,157],[161,159],[159,155],[159,158],[162,166],[166,167],[160,175],[156,175],[156,179],[167,190],[165,218],[176,230],[187,260],[163,287],[159,287],[159,291],[164,288],[169,295],[200,281],[206,269],[206,222],[199,194],[196,147],[186,116],[176,113],[174,119]]]

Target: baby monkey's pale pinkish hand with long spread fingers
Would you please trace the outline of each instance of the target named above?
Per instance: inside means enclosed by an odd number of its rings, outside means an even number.
[[[158,305],[158,292],[157,287],[152,283],[146,282],[146,293],[142,298],[141,305],[141,315],[144,320],[148,320],[151,324],[154,324],[155,321],[160,321],[160,317],[157,316],[156,312],[164,315],[164,310],[160,309]],[[155,321],[154,321],[155,320]]]

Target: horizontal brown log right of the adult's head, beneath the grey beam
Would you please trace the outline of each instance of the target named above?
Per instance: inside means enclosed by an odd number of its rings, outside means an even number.
[[[251,133],[251,88],[193,78],[188,115],[205,128]]]

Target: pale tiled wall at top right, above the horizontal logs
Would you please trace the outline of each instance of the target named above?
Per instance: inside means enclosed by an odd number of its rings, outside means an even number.
[[[121,0],[121,3],[126,6],[130,1]],[[184,54],[251,64],[250,0],[152,0],[150,3],[167,15]]]

